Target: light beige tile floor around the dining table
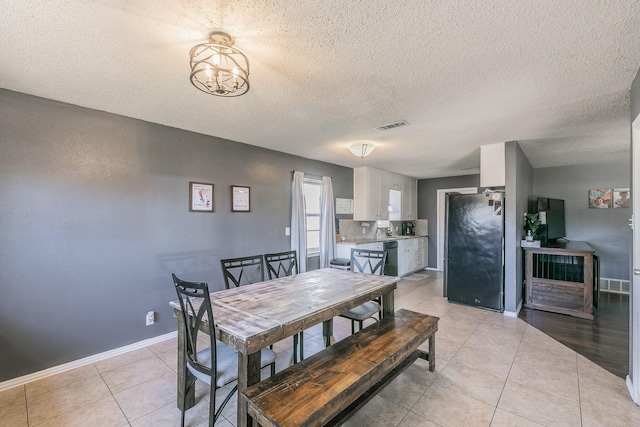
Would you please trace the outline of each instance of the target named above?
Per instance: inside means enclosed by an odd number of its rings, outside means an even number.
[[[436,372],[418,360],[345,425],[640,426],[624,380],[519,319],[449,304],[442,275],[402,280],[396,308],[439,316]],[[336,318],[335,337],[350,333]],[[278,370],[291,363],[278,343]],[[305,354],[320,351],[320,326],[305,331]],[[0,392],[0,426],[176,426],[175,340]],[[219,391],[220,392],[220,391]],[[207,425],[201,385],[187,425]],[[235,425],[236,403],[220,426]]]

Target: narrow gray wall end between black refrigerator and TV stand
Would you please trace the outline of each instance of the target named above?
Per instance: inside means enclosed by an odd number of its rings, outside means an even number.
[[[533,167],[515,141],[505,144],[505,268],[504,308],[516,313],[523,301],[523,213],[533,193]]]

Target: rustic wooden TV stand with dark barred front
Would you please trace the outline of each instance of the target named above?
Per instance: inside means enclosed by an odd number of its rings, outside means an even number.
[[[599,262],[586,242],[557,242],[526,253],[524,306],[593,319]],[[596,304],[597,305],[597,304]]]

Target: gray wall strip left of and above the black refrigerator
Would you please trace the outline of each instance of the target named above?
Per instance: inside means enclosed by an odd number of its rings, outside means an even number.
[[[480,175],[463,175],[418,180],[418,218],[429,220],[429,267],[438,265],[438,190],[478,187]]]

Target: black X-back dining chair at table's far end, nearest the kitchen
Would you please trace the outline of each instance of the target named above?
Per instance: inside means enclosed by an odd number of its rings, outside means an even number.
[[[373,251],[369,249],[351,249],[351,271],[356,273],[384,274],[384,263],[387,260],[387,251]],[[355,333],[355,322],[358,322],[359,329],[366,319],[374,319],[378,315],[380,318],[380,298],[376,301],[368,301],[340,315],[351,320],[351,333]]]

